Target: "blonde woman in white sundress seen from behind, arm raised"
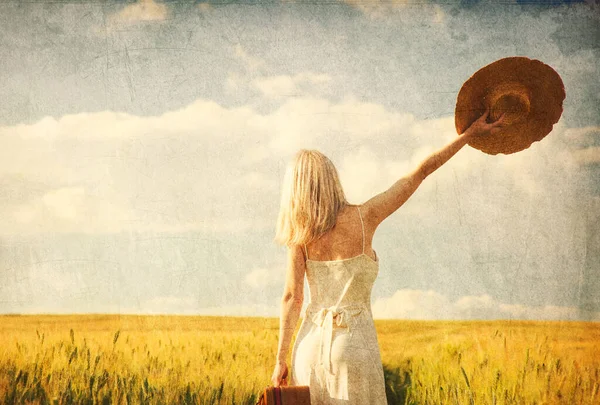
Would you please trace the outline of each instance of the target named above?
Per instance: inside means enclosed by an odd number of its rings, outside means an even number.
[[[503,117],[490,124],[487,116],[488,112],[414,172],[359,206],[346,201],[329,159],[317,151],[296,155],[284,180],[277,223],[276,239],[289,250],[272,375],[275,386],[286,383],[286,358],[302,308],[306,275],[310,303],[292,351],[291,385],[310,386],[312,405],[387,403],[370,305],[378,272],[373,235],[427,176],[470,139],[501,129]]]

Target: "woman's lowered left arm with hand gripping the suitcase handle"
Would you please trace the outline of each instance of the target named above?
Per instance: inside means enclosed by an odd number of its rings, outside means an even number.
[[[271,377],[271,381],[276,387],[287,375],[286,359],[304,300],[304,273],[306,273],[306,259],[302,248],[292,246],[288,251],[288,268],[281,298],[277,360]]]

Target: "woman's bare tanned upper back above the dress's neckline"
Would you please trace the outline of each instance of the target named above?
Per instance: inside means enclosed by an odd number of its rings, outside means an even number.
[[[371,247],[374,229],[368,225],[364,208],[358,205],[345,206],[338,214],[335,226],[319,239],[306,245],[306,259],[333,261],[349,259],[364,253],[377,260],[377,255]]]

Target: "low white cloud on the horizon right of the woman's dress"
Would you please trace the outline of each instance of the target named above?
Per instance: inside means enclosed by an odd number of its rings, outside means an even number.
[[[523,320],[577,320],[580,310],[565,306],[526,306],[505,304],[488,294],[464,296],[452,302],[438,292],[428,290],[397,290],[388,298],[373,303],[376,319],[523,319]],[[600,312],[587,314],[600,320]]]

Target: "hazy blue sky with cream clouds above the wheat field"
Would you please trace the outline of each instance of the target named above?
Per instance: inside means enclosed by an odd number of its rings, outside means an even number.
[[[278,316],[294,153],[362,203],[457,136],[474,72],[526,56],[561,119],[466,146],[380,226],[373,315],[600,321],[599,8],[2,2],[0,313]]]

